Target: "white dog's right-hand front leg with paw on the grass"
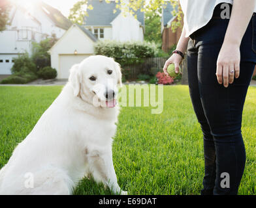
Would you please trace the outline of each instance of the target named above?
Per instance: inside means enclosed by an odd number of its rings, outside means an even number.
[[[94,151],[90,154],[91,172],[97,182],[103,182],[114,193],[126,195],[118,185],[118,179],[112,161],[112,153],[99,153]]]

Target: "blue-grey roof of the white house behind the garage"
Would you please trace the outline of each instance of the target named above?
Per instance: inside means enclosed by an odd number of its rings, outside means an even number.
[[[93,6],[92,10],[87,10],[88,16],[85,16],[86,26],[110,26],[111,22],[120,14],[121,10],[116,8],[116,1],[106,3],[104,0],[88,0],[88,5]],[[114,13],[113,10],[116,9]],[[135,11],[138,21],[144,26],[144,12]]]

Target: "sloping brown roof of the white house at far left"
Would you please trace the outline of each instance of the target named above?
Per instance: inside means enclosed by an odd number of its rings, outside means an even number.
[[[40,2],[38,5],[40,6],[40,9],[44,12],[44,14],[46,14],[46,16],[48,16],[48,18],[50,18],[57,27],[65,30],[71,27],[72,22],[69,19],[65,18],[65,16],[63,16],[63,14],[59,12],[59,10],[52,6],[46,5],[46,3],[43,2]]]

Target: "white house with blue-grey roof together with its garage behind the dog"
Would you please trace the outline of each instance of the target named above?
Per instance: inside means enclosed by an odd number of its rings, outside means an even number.
[[[144,13],[137,11],[137,19],[129,14],[123,16],[116,9],[116,2],[89,0],[84,25],[71,28],[50,49],[51,66],[57,70],[57,79],[67,79],[72,65],[94,54],[93,44],[98,40],[143,41]],[[116,12],[113,11],[116,9]],[[123,11],[123,10],[122,10]]]

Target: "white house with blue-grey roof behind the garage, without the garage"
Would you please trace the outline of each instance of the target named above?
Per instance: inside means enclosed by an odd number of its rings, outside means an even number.
[[[88,5],[93,9],[87,11],[83,27],[93,32],[99,40],[143,41],[144,12],[137,10],[135,18],[122,8],[116,8],[116,4],[116,1],[88,0]]]

